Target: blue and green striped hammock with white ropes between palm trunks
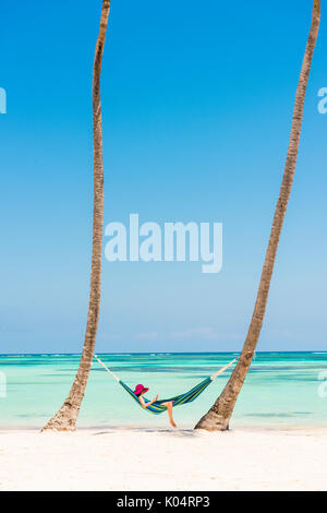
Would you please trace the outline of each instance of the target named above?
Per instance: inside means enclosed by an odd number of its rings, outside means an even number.
[[[128,386],[122,380],[120,380],[117,375],[114,375],[113,372],[111,372],[111,370],[109,370],[96,355],[94,355],[94,357],[98,360],[98,362],[102,367],[105,367],[105,369],[109,372],[109,374],[111,374],[116,379],[116,381],[118,381],[118,383],[121,384],[121,386],[131,395],[131,397],[133,397],[133,399],[136,401],[136,403],[143,408],[137,395],[134,394],[134,392],[130,389],[130,386]],[[202,394],[206,390],[206,387],[217,378],[217,375],[221,374],[234,361],[237,360],[232,360],[230,363],[222,367],[222,369],[218,370],[218,372],[203,380],[196,386],[191,389],[190,392],[185,392],[184,394],[181,394],[181,395],[175,395],[174,397],[169,397],[168,399],[156,401],[155,403],[153,403],[152,405],[147,406],[144,409],[147,409],[152,414],[159,415],[159,414],[162,414],[162,411],[167,410],[167,407],[164,406],[162,403],[168,403],[172,401],[173,402],[172,406],[180,406],[181,404],[192,403],[192,401],[196,399],[196,397],[198,397],[199,394]],[[149,403],[149,401],[146,399],[145,397],[144,397],[144,402]]]

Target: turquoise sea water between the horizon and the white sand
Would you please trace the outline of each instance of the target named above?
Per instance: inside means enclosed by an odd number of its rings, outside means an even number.
[[[112,354],[102,361],[148,397],[180,394],[213,374],[238,353]],[[0,428],[40,428],[60,407],[78,366],[77,355],[0,355]],[[191,427],[219,395],[230,370],[194,402],[174,409],[179,427]],[[96,361],[80,427],[166,427],[167,415],[140,408]],[[257,353],[237,403],[231,426],[327,426],[327,351]]]

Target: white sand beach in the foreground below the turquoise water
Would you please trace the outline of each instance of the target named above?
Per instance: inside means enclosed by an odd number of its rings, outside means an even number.
[[[327,429],[0,431],[0,490],[327,490]]]

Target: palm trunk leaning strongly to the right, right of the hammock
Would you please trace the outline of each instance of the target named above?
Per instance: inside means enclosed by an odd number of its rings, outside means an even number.
[[[259,337],[265,315],[270,281],[279,242],[279,237],[287,212],[288,201],[290,198],[293,178],[295,172],[295,165],[298,158],[301,126],[303,118],[303,108],[307,80],[311,70],[314,48],[317,40],[318,28],[320,22],[320,0],[314,0],[313,3],[313,19],[312,26],[308,34],[306,49],[304,53],[303,64],[300,73],[300,80],[296,90],[295,106],[293,112],[293,122],[291,128],[291,136],[288,148],[287,162],[282,177],[282,183],[279,192],[277,207],[275,211],[272,228],[270,232],[268,249],[264,269],[262,272],[261,283],[257,291],[254,312],[252,315],[251,324],[249,327],[247,336],[238,361],[238,365],[232,372],[226,387],[223,389],[216,403],[209,411],[198,421],[195,426],[196,429],[227,430],[229,428],[229,420],[232,415],[239,393],[244,383],[251,361],[255,351],[255,347]]]

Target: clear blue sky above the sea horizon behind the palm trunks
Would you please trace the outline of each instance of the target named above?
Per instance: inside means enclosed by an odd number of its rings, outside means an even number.
[[[100,1],[1,4],[1,351],[78,351],[92,237]],[[105,224],[222,222],[223,267],[104,261],[98,351],[240,349],[287,153],[312,2],[113,0],[102,64]],[[258,349],[326,348],[323,11]],[[5,49],[5,50],[4,50]]]

